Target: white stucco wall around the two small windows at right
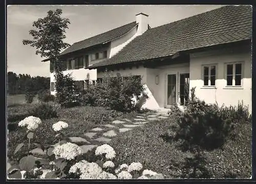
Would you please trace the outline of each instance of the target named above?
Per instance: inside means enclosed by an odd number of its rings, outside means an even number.
[[[242,67],[242,88],[226,87],[225,63],[244,62]],[[202,65],[217,65],[216,89],[203,87]],[[251,53],[248,49],[233,51],[216,51],[190,54],[190,83],[189,88],[196,87],[196,96],[206,103],[215,103],[219,106],[237,106],[238,101],[249,105],[251,112]]]

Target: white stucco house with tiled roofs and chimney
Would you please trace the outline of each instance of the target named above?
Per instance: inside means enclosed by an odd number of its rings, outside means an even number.
[[[155,28],[148,26],[147,18],[140,13],[136,22],[116,28],[124,33],[116,31],[118,37],[97,35],[97,41],[88,38],[63,51],[62,55],[92,53],[83,59],[86,69],[73,70],[73,76],[84,80],[89,73],[96,80],[106,70],[142,75],[150,97],[144,107],[149,109],[183,105],[188,89],[196,87],[196,96],[206,103],[236,106],[243,100],[251,112],[251,6],[224,6]],[[91,47],[104,48],[105,59],[93,60]]]

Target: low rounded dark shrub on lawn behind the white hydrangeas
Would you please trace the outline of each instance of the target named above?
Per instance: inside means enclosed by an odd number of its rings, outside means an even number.
[[[45,103],[41,103],[39,106],[29,109],[28,114],[30,116],[39,117],[40,119],[57,117],[57,112],[53,109],[53,107]]]

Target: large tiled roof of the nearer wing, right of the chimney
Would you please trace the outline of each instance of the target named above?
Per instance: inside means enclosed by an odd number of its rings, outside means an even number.
[[[173,55],[180,51],[251,39],[252,8],[224,6],[148,29],[113,57],[89,68]]]

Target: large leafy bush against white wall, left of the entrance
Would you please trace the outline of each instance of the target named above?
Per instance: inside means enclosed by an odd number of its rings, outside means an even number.
[[[147,95],[143,93],[144,87],[141,84],[141,76],[128,76],[122,80],[120,74],[113,77],[107,74],[103,83],[92,86],[83,91],[81,103],[83,105],[104,106],[121,112],[131,112],[143,103]],[[141,96],[141,94],[143,94]],[[135,104],[141,98],[140,104]]]

